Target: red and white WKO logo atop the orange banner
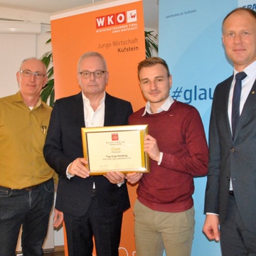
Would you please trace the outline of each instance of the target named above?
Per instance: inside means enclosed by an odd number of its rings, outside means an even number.
[[[122,11],[117,14],[96,17],[96,28],[117,26],[135,21],[137,21],[137,10]]]

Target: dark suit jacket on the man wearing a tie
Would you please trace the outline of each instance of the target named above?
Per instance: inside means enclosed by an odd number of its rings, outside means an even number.
[[[210,160],[205,212],[218,213],[220,223],[228,208],[232,178],[235,201],[245,226],[256,229],[256,81],[240,115],[235,138],[228,121],[228,97],[233,76],[217,85],[210,116]]]

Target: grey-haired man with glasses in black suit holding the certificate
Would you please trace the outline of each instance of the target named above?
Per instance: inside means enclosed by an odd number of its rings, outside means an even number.
[[[132,114],[130,102],[105,92],[107,81],[107,64],[100,53],[80,57],[82,92],[56,100],[43,149],[60,176],[55,208],[64,214],[69,256],[91,256],[92,236],[97,256],[117,256],[122,214],[129,208],[124,174],[90,176],[82,153],[81,127],[125,125]]]

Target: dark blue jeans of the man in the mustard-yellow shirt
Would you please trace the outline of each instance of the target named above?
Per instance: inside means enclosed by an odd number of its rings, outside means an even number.
[[[43,255],[53,196],[52,178],[31,191],[0,186],[0,256],[16,255],[21,225],[23,256]]]

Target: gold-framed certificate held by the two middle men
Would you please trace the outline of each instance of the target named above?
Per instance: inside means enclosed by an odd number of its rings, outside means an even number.
[[[82,128],[82,148],[90,175],[109,171],[149,172],[144,153],[147,124]]]

